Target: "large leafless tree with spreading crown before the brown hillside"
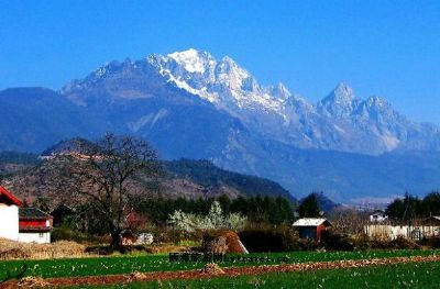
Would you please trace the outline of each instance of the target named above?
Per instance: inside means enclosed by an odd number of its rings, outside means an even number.
[[[132,136],[107,134],[96,143],[81,143],[75,152],[57,154],[48,160],[50,181],[73,202],[88,202],[109,229],[111,247],[120,249],[121,233],[128,227],[134,197],[148,193],[140,181],[162,175],[155,151]]]

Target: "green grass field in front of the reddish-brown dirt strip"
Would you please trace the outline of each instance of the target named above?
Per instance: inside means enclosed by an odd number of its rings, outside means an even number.
[[[88,288],[439,288],[440,263],[414,263],[369,268],[217,277],[197,280],[133,282]],[[74,287],[73,287],[74,288]]]

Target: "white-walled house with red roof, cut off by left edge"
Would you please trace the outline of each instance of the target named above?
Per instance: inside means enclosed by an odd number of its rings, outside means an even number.
[[[0,186],[0,237],[19,241],[19,207],[22,202]]]

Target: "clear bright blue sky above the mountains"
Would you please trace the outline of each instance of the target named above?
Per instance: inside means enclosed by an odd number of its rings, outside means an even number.
[[[440,1],[0,0],[0,89],[189,47],[312,102],[343,80],[440,123]]]

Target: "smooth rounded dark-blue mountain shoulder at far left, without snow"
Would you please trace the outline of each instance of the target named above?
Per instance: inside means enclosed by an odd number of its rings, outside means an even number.
[[[45,88],[0,91],[0,148],[41,152],[62,138],[94,136],[80,110]]]

